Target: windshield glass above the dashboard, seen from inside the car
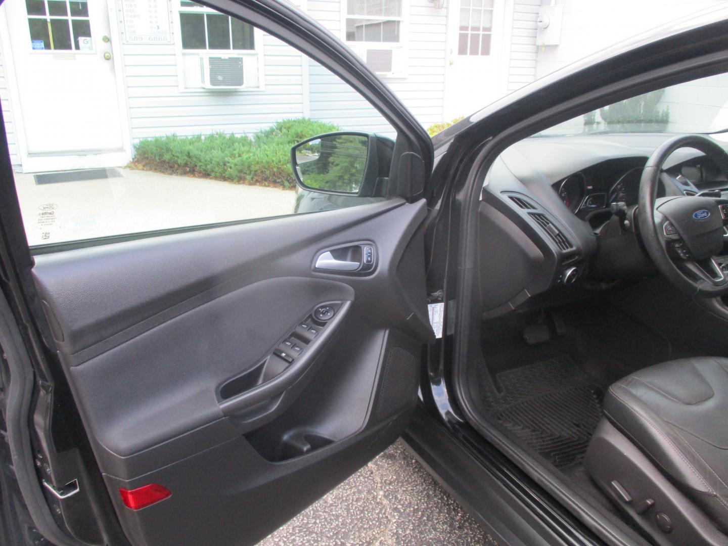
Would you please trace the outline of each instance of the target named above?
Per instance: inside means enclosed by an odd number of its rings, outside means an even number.
[[[598,108],[534,136],[728,129],[728,74],[665,87]]]

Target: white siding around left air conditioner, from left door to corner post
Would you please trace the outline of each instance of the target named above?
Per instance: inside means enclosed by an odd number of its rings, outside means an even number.
[[[253,134],[304,115],[301,54],[267,34],[263,91],[180,90],[174,45],[122,44],[122,57],[132,143],[170,134]]]

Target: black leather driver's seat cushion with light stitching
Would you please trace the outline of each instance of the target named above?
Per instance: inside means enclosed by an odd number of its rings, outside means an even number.
[[[644,368],[609,387],[604,412],[728,532],[728,359]]]

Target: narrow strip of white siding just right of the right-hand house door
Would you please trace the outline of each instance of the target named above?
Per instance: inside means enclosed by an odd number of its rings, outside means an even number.
[[[541,0],[514,0],[510,29],[507,90],[512,92],[536,79],[538,49],[536,20]]]

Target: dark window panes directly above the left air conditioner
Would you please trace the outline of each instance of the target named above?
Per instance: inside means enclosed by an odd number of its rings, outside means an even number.
[[[183,50],[255,50],[253,27],[191,0],[180,1]]]

